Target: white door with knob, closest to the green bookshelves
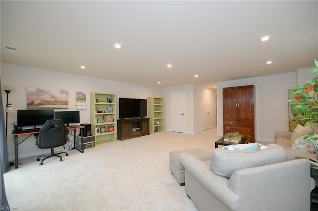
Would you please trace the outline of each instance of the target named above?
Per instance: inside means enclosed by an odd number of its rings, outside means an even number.
[[[184,133],[185,130],[185,93],[171,93],[171,131]]]

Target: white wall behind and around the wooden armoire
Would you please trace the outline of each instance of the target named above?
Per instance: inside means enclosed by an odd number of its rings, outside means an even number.
[[[274,142],[276,130],[288,130],[288,89],[296,85],[297,73],[285,73],[217,83],[218,128],[223,136],[224,87],[255,85],[256,87],[256,140]]]

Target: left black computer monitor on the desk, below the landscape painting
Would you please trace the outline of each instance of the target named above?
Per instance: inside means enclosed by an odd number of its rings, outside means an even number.
[[[27,109],[17,110],[18,126],[34,126],[35,128],[49,120],[54,119],[53,109]]]

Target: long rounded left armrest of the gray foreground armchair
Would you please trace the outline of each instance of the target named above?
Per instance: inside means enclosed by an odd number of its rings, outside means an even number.
[[[179,161],[211,194],[232,210],[238,210],[239,196],[228,187],[228,178],[214,174],[210,166],[191,154],[182,153]]]

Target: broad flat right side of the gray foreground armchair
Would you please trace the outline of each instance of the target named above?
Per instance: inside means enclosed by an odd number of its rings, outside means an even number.
[[[313,186],[308,159],[241,169],[229,181],[242,210],[257,210],[259,205],[262,210],[310,210]]]

